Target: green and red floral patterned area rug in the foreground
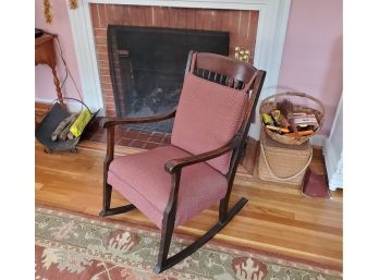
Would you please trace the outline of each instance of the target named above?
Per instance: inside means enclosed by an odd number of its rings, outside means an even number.
[[[90,280],[334,280],[341,272],[265,256],[212,242],[176,266],[155,275],[159,233],[155,230],[37,207],[36,278]],[[175,236],[170,254],[188,240]]]

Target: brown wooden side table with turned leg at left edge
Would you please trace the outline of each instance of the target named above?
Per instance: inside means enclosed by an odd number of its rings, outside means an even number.
[[[53,39],[57,35],[44,34],[36,38],[35,64],[45,63],[52,70],[53,82],[56,85],[57,96],[60,104],[63,104],[61,85],[57,76],[57,61]]]

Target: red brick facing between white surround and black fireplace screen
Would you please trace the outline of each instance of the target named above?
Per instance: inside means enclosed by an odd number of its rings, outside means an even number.
[[[99,69],[101,94],[106,114],[115,117],[115,104],[110,76],[107,28],[109,25],[146,26],[228,32],[229,54],[234,48],[250,50],[254,60],[258,16],[256,10],[220,10],[196,8],[169,8],[129,4],[90,3],[90,16],[95,35],[95,49]]]

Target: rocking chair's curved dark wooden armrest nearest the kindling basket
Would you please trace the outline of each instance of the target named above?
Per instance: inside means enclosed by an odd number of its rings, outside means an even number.
[[[240,145],[241,145],[241,137],[236,135],[228,144],[225,144],[224,146],[218,149],[209,150],[209,151],[195,155],[192,157],[171,159],[166,162],[164,169],[167,172],[172,174],[181,170],[183,167],[192,166],[201,161],[207,161],[209,159],[222,156],[223,154],[227,154],[228,151],[235,149]]]

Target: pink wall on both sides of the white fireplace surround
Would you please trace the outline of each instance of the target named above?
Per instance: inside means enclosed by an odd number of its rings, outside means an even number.
[[[66,1],[52,0],[52,25],[46,24],[42,0],[36,0],[36,27],[59,35],[69,68],[81,88]],[[64,76],[59,62],[59,77]],[[51,71],[36,66],[36,98],[56,98]],[[342,0],[292,0],[279,76],[279,90],[301,90],[326,108],[321,134],[328,135],[342,93]],[[77,97],[69,78],[65,96]]]

